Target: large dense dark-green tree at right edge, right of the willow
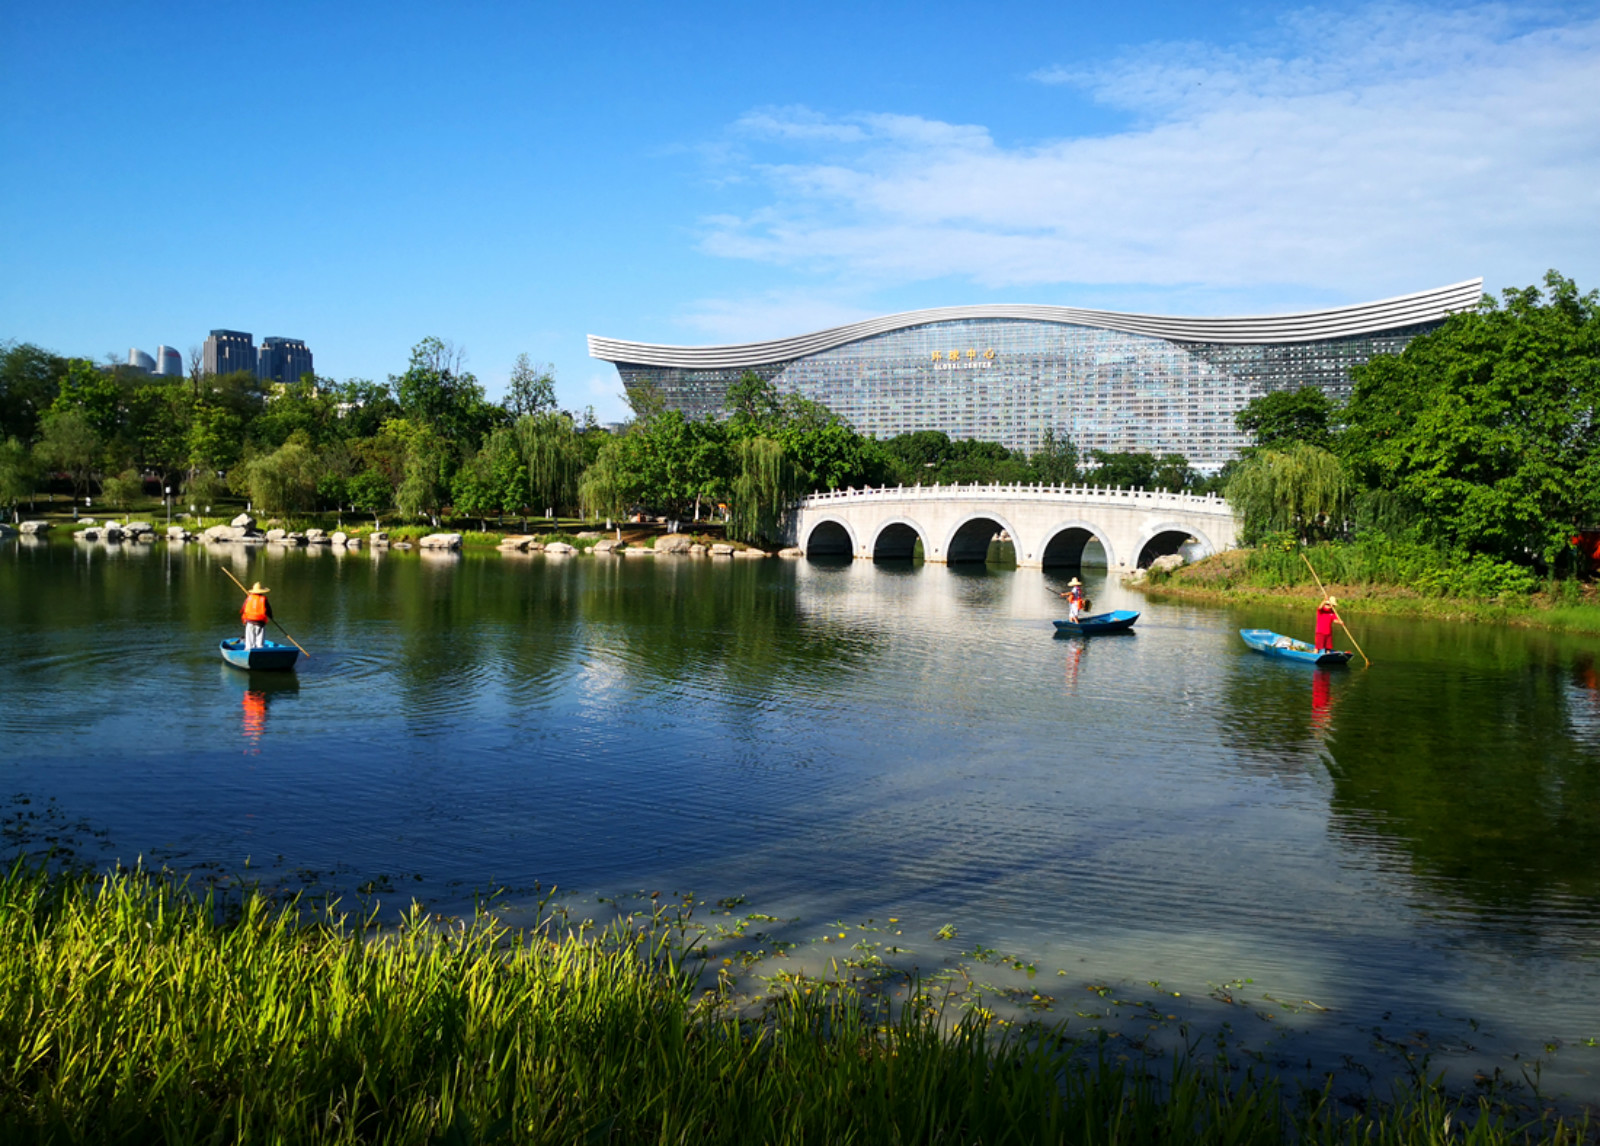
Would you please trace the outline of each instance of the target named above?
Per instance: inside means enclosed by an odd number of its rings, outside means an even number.
[[[1354,375],[1342,450],[1445,549],[1557,567],[1600,522],[1600,296],[1550,270]]]

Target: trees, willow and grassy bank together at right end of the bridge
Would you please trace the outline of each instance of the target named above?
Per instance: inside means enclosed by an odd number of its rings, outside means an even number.
[[[1550,272],[1318,389],[1256,399],[1226,496],[1248,554],[1168,591],[1298,592],[1323,581],[1426,602],[1576,608],[1600,552],[1600,293]],[[1581,608],[1579,608],[1581,615]],[[1597,626],[1600,627],[1600,626]]]

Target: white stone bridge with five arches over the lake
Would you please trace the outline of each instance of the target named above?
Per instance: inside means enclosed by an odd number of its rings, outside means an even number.
[[[803,498],[789,515],[806,555],[982,562],[1010,539],[1026,568],[1080,565],[1098,541],[1106,565],[1128,570],[1182,552],[1232,549],[1238,522],[1216,495],[1085,485],[917,485],[837,490]]]

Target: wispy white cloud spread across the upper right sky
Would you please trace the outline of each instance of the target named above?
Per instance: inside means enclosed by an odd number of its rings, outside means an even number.
[[[1310,10],[1262,45],[1154,45],[1034,78],[1136,123],[1008,147],[979,125],[752,112],[749,146],[782,152],[752,171],[766,202],[704,221],[704,248],[858,290],[954,274],[1376,296],[1600,274],[1594,18]]]

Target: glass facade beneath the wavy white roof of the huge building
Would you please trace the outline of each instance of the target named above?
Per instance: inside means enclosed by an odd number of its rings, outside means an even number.
[[[1096,327],[960,319],[904,327],[754,368],[618,363],[622,383],[659,389],[670,408],[718,416],[744,373],[821,402],[862,434],[936,429],[1034,451],[1045,431],[1080,451],[1182,453],[1214,471],[1248,445],[1234,416],[1270,391],[1318,386],[1334,400],[1350,370],[1397,354],[1419,323],[1307,343],[1178,343]]]

